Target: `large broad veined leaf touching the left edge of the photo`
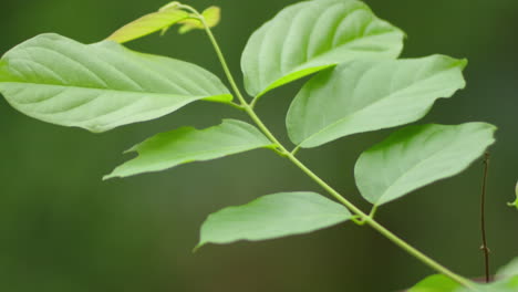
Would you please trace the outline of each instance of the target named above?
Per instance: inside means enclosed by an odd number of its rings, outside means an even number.
[[[18,111],[92,132],[154,119],[198,100],[232,98],[218,77],[194,64],[58,34],[15,46],[0,72],[0,93]]]

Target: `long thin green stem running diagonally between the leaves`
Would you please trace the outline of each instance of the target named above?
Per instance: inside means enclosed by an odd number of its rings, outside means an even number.
[[[322,187],[325,191],[328,191],[333,198],[335,198],[338,201],[343,204],[346,208],[349,208],[353,213],[355,213],[362,221],[364,221],[366,225],[371,226],[374,230],[383,234],[385,238],[387,238],[390,241],[405,250],[407,253],[412,254],[415,257],[417,260],[422,261],[424,264],[428,265],[429,268],[436,270],[439,273],[443,273],[444,275],[450,278],[452,280],[458,282],[459,284],[469,288],[474,291],[476,291],[476,288],[474,284],[465,279],[462,275],[458,275],[450,270],[448,270],[446,267],[439,264],[438,262],[434,261],[433,259],[428,258],[426,254],[423,252],[418,251],[411,244],[406,243],[404,240],[398,238],[396,234],[392,233],[390,230],[387,230],[385,227],[376,222],[372,217],[369,215],[364,213],[361,209],[359,209],[356,206],[354,206],[352,202],[350,202],[348,199],[345,199],[342,195],[340,195],[336,190],[334,190],[331,186],[329,186],[324,180],[322,180],[318,175],[315,175],[311,169],[309,169],[302,161],[300,161],[293,153],[289,152],[286,149],[286,147],[276,138],[276,136],[270,132],[270,129],[262,123],[262,121],[259,118],[259,116],[256,114],[253,111],[252,106],[248,104],[242,96],[239,87],[237,86],[237,83],[230,72],[230,69],[228,67],[227,61],[225,60],[225,56],[221,52],[221,49],[219,48],[218,42],[216,41],[216,38],[214,36],[211,30],[206,25],[205,19],[203,18],[199,12],[197,12],[195,9],[190,7],[186,7],[187,9],[191,10],[194,13],[198,14],[200,18],[200,21],[204,23],[205,31],[207,32],[208,38],[210,39],[210,42],[213,43],[214,49],[216,50],[216,54],[218,55],[218,59],[221,63],[221,66],[225,71],[225,74],[228,79],[228,82],[230,83],[236,96],[238,97],[239,102],[241,103],[241,107],[247,112],[247,114],[250,116],[250,118],[256,123],[256,125],[259,127],[259,129],[272,142],[276,144],[278,150],[282,154],[282,156],[287,157],[291,163],[293,163],[297,167],[299,167],[307,176],[309,176],[312,180],[314,180],[320,187]]]

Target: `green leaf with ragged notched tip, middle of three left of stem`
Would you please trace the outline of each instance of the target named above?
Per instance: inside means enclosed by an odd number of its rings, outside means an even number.
[[[182,164],[203,161],[256,148],[273,147],[256,127],[235,119],[203,131],[183,127],[158,134],[128,152],[138,156],[118,166],[104,179],[160,171]]]

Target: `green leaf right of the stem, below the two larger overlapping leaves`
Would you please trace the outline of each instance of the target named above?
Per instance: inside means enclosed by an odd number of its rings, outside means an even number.
[[[466,169],[495,142],[495,131],[486,123],[408,126],[360,156],[356,185],[375,206],[395,200]]]

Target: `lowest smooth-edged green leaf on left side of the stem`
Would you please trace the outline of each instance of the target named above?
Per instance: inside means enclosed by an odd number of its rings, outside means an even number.
[[[351,219],[349,210],[314,192],[281,192],[225,208],[201,226],[197,248],[209,242],[267,240],[313,232]]]

